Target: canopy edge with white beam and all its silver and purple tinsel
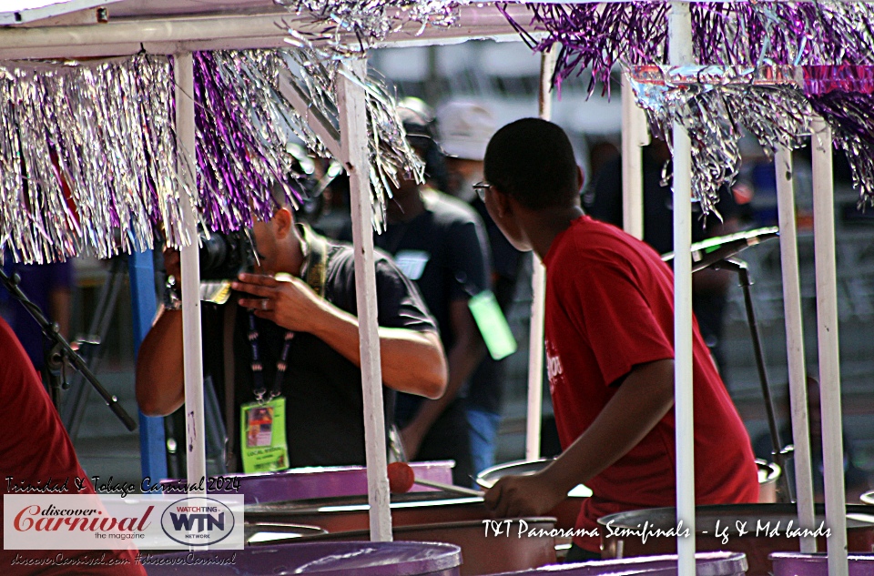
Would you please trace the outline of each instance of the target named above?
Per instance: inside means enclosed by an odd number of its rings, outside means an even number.
[[[15,4],[19,4],[16,6]],[[656,132],[681,122],[694,143],[695,193],[712,205],[715,187],[737,174],[737,138],[766,150],[797,147],[814,115],[848,154],[860,202],[874,199],[871,68],[874,13],[840,2],[690,3],[694,63],[664,66],[669,3],[469,3],[447,0],[117,0],[51,14],[10,0],[0,8],[0,248],[42,262],[80,253],[106,257],[152,246],[159,229],[184,245],[182,195],[204,227],[233,229],[271,209],[269,182],[288,174],[290,138],[318,155],[320,142],[283,97],[289,89],[332,118],[342,58],[382,45],[521,37],[535,50],[560,46],[554,71],[591,69],[593,85],[616,64]],[[66,7],[71,14],[64,15]],[[29,26],[29,27],[28,27]],[[290,48],[278,52],[279,47]],[[243,48],[269,48],[246,50]],[[196,150],[176,150],[174,53],[195,59]],[[127,56],[124,56],[127,55]],[[100,56],[78,64],[58,59]],[[120,56],[111,60],[107,56]],[[52,59],[36,63],[33,59]],[[30,61],[24,61],[30,60]],[[371,194],[421,170],[406,147],[391,96],[367,86]],[[176,177],[177,155],[197,159],[198,187]],[[300,199],[294,178],[287,195]]]

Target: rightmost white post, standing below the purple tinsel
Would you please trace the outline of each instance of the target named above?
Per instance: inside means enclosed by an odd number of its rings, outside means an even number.
[[[835,262],[835,190],[831,167],[831,128],[812,123],[813,232],[817,270],[819,404],[825,466],[829,576],[847,576],[847,496],[844,492],[844,441],[840,416],[838,288]]]

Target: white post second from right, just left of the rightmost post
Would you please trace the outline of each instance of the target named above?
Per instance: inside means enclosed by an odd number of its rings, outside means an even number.
[[[801,315],[801,281],[798,277],[798,230],[795,220],[795,189],[792,186],[792,153],[777,148],[774,157],[777,171],[777,211],[780,223],[780,261],[783,268],[783,310],[786,315],[786,351],[789,368],[789,403],[792,411],[792,438],[795,446],[795,491],[798,521],[801,526],[815,526],[813,508],[813,474],[808,434],[808,382],[804,364],[804,323]],[[783,470],[786,474],[786,470]],[[800,538],[802,552],[817,551],[817,539]]]

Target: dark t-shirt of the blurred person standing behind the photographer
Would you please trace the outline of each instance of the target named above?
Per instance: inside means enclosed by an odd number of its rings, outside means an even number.
[[[433,190],[423,190],[425,210],[405,222],[391,223],[374,243],[391,254],[398,268],[415,281],[440,328],[443,349],[452,349],[450,303],[468,300],[489,287],[489,248],[483,222],[473,208]],[[398,395],[396,419],[412,418],[422,399]]]

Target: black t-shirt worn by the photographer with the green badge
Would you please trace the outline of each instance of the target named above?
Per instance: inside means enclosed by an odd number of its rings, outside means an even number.
[[[324,298],[357,316],[354,251],[329,242]],[[384,328],[436,331],[418,290],[393,265],[376,254],[376,288],[379,324]],[[221,409],[225,408],[222,360],[223,307],[204,303],[204,374],[212,378]],[[256,318],[259,355],[264,383],[269,389],[276,376],[276,362],[285,328]],[[249,345],[249,311],[237,309],[234,326],[235,421],[229,426],[239,446],[239,406],[255,399]],[[394,390],[382,388],[383,409],[391,423]],[[286,399],[286,438],[291,467],[363,465],[364,419],[361,369],[315,336],[299,332],[291,341],[282,395]],[[239,460],[239,459],[238,459]]]

